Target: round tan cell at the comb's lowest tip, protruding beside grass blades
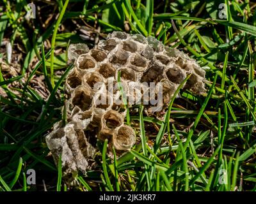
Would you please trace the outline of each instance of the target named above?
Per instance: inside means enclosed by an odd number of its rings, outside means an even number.
[[[129,150],[134,145],[136,135],[134,130],[127,125],[122,125],[116,134],[113,135],[112,143],[116,150]]]

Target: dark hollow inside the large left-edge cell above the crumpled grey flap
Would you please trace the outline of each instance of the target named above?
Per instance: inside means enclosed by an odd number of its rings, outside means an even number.
[[[92,96],[90,95],[90,91],[85,91],[81,89],[76,90],[75,96],[72,99],[72,104],[78,106],[83,111],[88,110],[88,108],[90,108],[92,104]]]

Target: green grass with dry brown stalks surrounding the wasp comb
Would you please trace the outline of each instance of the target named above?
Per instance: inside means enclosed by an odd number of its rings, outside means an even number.
[[[256,191],[256,3],[36,1],[40,11],[26,20],[27,3],[3,0],[0,6],[0,45],[10,41],[14,55],[7,64],[1,47],[0,191]],[[218,17],[220,3],[227,5],[226,20]],[[84,27],[88,40],[80,36]],[[143,106],[127,109],[136,145],[109,158],[108,142],[99,142],[97,168],[79,174],[77,187],[66,186],[45,135],[66,121],[67,46],[92,48],[112,31],[154,36],[188,53],[206,71],[207,92],[198,96],[180,85],[179,97],[158,118],[148,117]],[[40,77],[46,96],[35,80]],[[122,89],[120,78],[118,85]],[[31,168],[36,185],[26,183]]]

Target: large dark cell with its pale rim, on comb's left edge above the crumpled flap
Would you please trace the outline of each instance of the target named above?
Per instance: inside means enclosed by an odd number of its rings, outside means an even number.
[[[92,90],[89,85],[78,87],[72,95],[72,105],[78,106],[81,110],[88,110],[92,105]]]

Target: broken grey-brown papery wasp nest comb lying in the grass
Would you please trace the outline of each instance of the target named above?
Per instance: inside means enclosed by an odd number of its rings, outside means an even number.
[[[143,103],[148,112],[163,110],[189,74],[184,89],[205,91],[204,70],[153,37],[113,32],[92,50],[70,45],[68,59],[75,66],[66,80],[67,124],[59,122],[46,137],[66,174],[86,173],[97,140],[108,138],[109,147],[121,152],[134,145],[135,132],[124,124],[125,106]]]

